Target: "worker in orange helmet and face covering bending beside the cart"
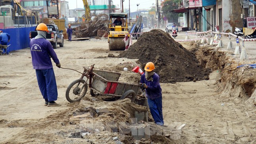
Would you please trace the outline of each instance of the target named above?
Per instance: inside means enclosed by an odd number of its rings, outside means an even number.
[[[155,65],[152,62],[146,63],[141,76],[142,87],[146,89],[146,97],[150,113],[157,125],[164,125],[162,112],[162,88],[159,83],[158,74],[154,73]]]

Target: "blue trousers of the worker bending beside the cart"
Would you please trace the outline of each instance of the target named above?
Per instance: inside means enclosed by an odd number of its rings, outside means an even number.
[[[162,96],[154,100],[148,98],[148,106],[150,113],[158,125],[164,125],[163,112],[162,112]]]

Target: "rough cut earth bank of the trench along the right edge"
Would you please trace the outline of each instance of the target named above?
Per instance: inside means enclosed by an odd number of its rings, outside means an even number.
[[[236,61],[231,54],[218,48],[196,46],[192,52],[206,71],[217,70],[216,84],[222,96],[234,98],[237,103],[245,102],[249,107],[256,105],[255,69],[248,65],[237,68],[246,63]]]

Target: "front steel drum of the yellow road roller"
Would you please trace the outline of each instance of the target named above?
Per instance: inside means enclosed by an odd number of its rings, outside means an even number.
[[[109,50],[125,50],[124,37],[110,37],[108,49]]]

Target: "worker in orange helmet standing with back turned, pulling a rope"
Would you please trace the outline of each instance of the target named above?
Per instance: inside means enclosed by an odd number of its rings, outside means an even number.
[[[36,70],[38,86],[45,100],[44,106],[61,106],[54,102],[57,100],[58,91],[51,58],[59,68],[60,61],[51,43],[46,40],[47,26],[40,23],[36,30],[37,36],[31,39],[29,45],[33,69]]]

